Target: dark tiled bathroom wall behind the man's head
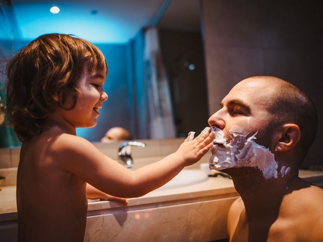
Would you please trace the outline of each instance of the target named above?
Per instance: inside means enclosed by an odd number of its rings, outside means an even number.
[[[240,80],[283,78],[305,91],[323,118],[321,1],[201,0],[209,112]],[[302,167],[321,165],[323,123]]]

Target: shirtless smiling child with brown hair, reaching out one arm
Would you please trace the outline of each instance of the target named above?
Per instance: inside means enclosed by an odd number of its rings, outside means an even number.
[[[142,196],[197,162],[214,133],[131,172],[77,137],[93,127],[107,94],[107,66],[93,44],[64,34],[38,37],[7,66],[7,112],[23,142],[17,178],[19,241],[83,241],[86,184],[103,194]]]

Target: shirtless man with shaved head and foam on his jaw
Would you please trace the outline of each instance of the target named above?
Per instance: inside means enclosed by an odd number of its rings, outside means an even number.
[[[317,129],[310,99],[282,79],[251,77],[208,123],[219,137],[210,167],[230,174],[241,196],[229,210],[229,241],[323,241],[323,190],[298,177]]]

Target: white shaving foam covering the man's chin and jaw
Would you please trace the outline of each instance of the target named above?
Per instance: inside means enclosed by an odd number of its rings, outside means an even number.
[[[247,138],[248,134],[230,130],[231,141],[227,144],[222,130],[216,127],[211,127],[211,130],[216,132],[216,136],[211,149],[210,169],[223,170],[248,166],[258,168],[266,180],[278,177],[278,164],[274,154],[254,141],[256,134]]]

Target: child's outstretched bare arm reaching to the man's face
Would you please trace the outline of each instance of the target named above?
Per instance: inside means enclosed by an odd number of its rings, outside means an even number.
[[[87,140],[64,134],[56,142],[53,157],[61,169],[80,177],[104,193],[118,197],[139,197],[171,180],[185,166],[197,162],[211,147],[214,133],[189,141],[164,159],[131,172],[102,154]]]

